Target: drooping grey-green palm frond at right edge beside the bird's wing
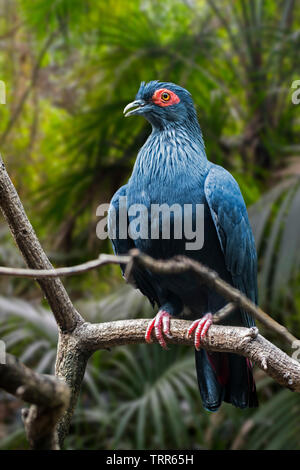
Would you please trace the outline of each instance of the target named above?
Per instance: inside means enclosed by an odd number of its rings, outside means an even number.
[[[300,182],[295,177],[275,186],[249,210],[260,255],[260,304],[273,315],[284,310],[297,312],[297,305],[291,299],[296,300],[298,293],[299,213]],[[299,327],[298,321],[300,332]]]

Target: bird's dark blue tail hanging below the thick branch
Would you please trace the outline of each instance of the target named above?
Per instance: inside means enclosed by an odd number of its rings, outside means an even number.
[[[222,401],[238,408],[258,406],[249,359],[232,353],[196,352],[196,370],[204,408],[217,411]]]

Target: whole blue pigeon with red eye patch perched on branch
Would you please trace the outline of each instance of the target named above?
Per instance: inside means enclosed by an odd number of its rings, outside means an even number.
[[[257,304],[257,253],[246,205],[231,173],[208,160],[189,91],[171,82],[142,82],[124,114],[143,116],[152,131],[138,152],[127,184],[117,190],[109,205],[108,232],[114,253],[124,255],[135,248],[163,260],[185,255],[216,271]],[[193,227],[196,207],[202,207],[202,246],[187,249],[190,239],[185,233],[175,237],[170,232],[169,238],[163,237],[161,215],[156,219],[149,215],[157,205],[176,205],[183,210],[189,207]],[[140,224],[148,224],[150,232],[155,225],[158,236],[151,237],[152,232],[138,236],[138,224],[134,225],[137,213]],[[170,211],[171,227],[178,221],[180,225],[182,218],[178,217],[176,211]],[[128,224],[126,236],[121,219]],[[125,265],[120,266],[124,276]],[[170,319],[188,316],[193,320],[189,335],[194,335],[197,381],[204,409],[217,411],[222,402],[241,409],[258,406],[251,361],[237,354],[201,348],[214,313],[226,304],[224,298],[213,288],[199,284],[193,273],[162,275],[135,266],[131,277],[152,306],[158,307],[148,324],[146,342],[152,342],[155,335],[167,349],[172,337]],[[236,308],[222,324],[250,328],[255,321],[249,313]]]

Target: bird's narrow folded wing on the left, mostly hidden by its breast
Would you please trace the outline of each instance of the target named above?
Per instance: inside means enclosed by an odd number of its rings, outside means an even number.
[[[128,254],[132,248],[136,248],[134,240],[132,240],[128,234],[128,229],[122,227],[123,232],[126,230],[126,236],[124,237],[124,233],[121,232],[119,226],[120,219],[123,220],[124,223],[125,218],[127,221],[127,227],[129,225],[126,206],[126,190],[127,185],[122,186],[115,193],[108,210],[108,233],[115,255],[125,255]],[[120,211],[123,211],[121,218],[119,217]],[[120,267],[124,276],[126,266],[124,264],[120,264]],[[145,269],[135,267],[132,271],[132,277],[135,281],[135,287],[137,287],[142,294],[148,297],[151,304],[159,304],[157,289],[155,288],[155,280],[151,273]]]

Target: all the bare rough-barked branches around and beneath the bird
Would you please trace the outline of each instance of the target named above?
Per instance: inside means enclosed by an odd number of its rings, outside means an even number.
[[[80,266],[54,270],[25,214],[22,203],[5,170],[1,157],[0,207],[9,224],[16,244],[29,268],[31,268],[28,270],[0,268],[0,274],[25,275],[25,277],[37,278],[53,311],[59,329],[56,375],[64,379],[69,386],[67,388],[64,383],[58,382],[54,378],[48,378],[47,380],[43,378],[41,380],[37,374],[30,371],[30,374],[32,374],[30,377],[33,377],[33,382],[35,380],[35,386],[32,386],[30,390],[32,394],[36,393],[37,395],[35,395],[35,401],[32,400],[35,405],[29,411],[24,412],[23,418],[28,439],[33,448],[58,448],[56,434],[53,432],[58,419],[59,442],[61,445],[63,444],[69,430],[87,360],[90,355],[101,348],[110,348],[122,344],[144,343],[145,332],[149,322],[146,319],[102,324],[84,322],[83,318],[74,308],[63,284],[58,279],[57,276],[60,274],[73,275],[108,263],[127,264],[125,273],[127,279],[130,279],[131,269],[135,263],[138,263],[143,268],[162,274],[193,271],[198,281],[208,284],[230,302],[215,314],[214,323],[223,320],[234,308],[241,307],[261,321],[267,328],[276,331],[289,344],[293,345],[297,341],[285,327],[279,325],[237,289],[234,289],[220,279],[217,273],[187,257],[176,257],[172,260],[154,260],[135,250],[130,253],[130,256],[115,257],[100,255],[98,260],[93,260]],[[186,320],[172,319],[171,333],[173,338],[168,342],[193,345],[193,338],[187,338],[187,331],[190,325],[191,322]],[[278,383],[291,390],[300,392],[300,364],[261,335],[258,335],[256,328],[247,329],[212,325],[207,336],[203,339],[202,347],[213,351],[233,352],[246,356]],[[24,366],[19,365],[19,367],[21,367],[19,373],[21,374],[21,371],[24,373],[25,369],[22,368]],[[4,370],[2,368],[0,372],[2,371],[3,373]],[[28,374],[28,371],[26,374]],[[13,382],[8,380],[7,375],[5,376],[4,374],[2,379],[3,388],[11,391],[11,393],[19,394],[19,396],[21,394],[28,401],[32,399],[31,395],[26,395],[29,393],[27,382],[27,388],[25,387],[24,389],[22,388],[22,383],[20,383],[21,388],[17,388],[18,383],[16,379],[14,386],[8,385]],[[49,384],[54,388],[58,387],[59,389],[61,386],[64,387],[64,390],[66,388],[70,390],[68,400],[62,400],[63,403],[61,402],[57,406],[50,406],[50,402],[47,401],[45,403],[41,401],[45,399],[41,398],[42,396],[48,396],[49,390],[47,386],[50,386]],[[39,392],[41,395],[39,395]],[[65,411],[62,415],[63,410]],[[50,428],[51,432],[43,434],[43,429]]]

